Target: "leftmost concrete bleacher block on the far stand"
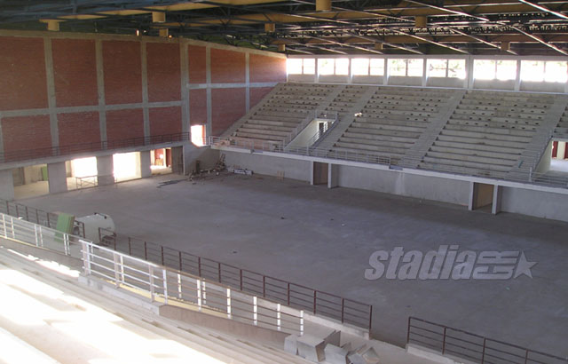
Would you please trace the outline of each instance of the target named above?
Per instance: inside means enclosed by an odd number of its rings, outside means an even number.
[[[262,101],[233,137],[280,143],[288,138],[306,117],[337,87],[319,83],[280,83],[272,95]]]

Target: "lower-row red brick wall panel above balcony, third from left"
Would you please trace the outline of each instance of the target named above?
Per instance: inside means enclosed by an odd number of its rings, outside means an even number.
[[[144,112],[141,108],[106,112],[106,140],[144,137]]]

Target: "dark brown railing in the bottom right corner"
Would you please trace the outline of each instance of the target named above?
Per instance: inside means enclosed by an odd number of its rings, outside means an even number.
[[[412,316],[408,318],[406,344],[417,344],[482,364],[568,363],[568,358],[537,352]]]

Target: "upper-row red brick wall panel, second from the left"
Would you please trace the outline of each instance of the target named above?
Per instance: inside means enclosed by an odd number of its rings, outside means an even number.
[[[95,41],[53,39],[51,50],[57,106],[98,105]]]

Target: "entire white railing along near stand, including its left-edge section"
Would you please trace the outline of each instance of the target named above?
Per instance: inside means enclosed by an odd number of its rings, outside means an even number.
[[[83,260],[86,275],[110,281],[151,302],[197,305],[205,313],[223,313],[262,328],[304,334],[304,310],[248,295],[223,284],[208,281],[138,257],[101,247],[79,236],[0,213],[0,237],[61,252]]]

